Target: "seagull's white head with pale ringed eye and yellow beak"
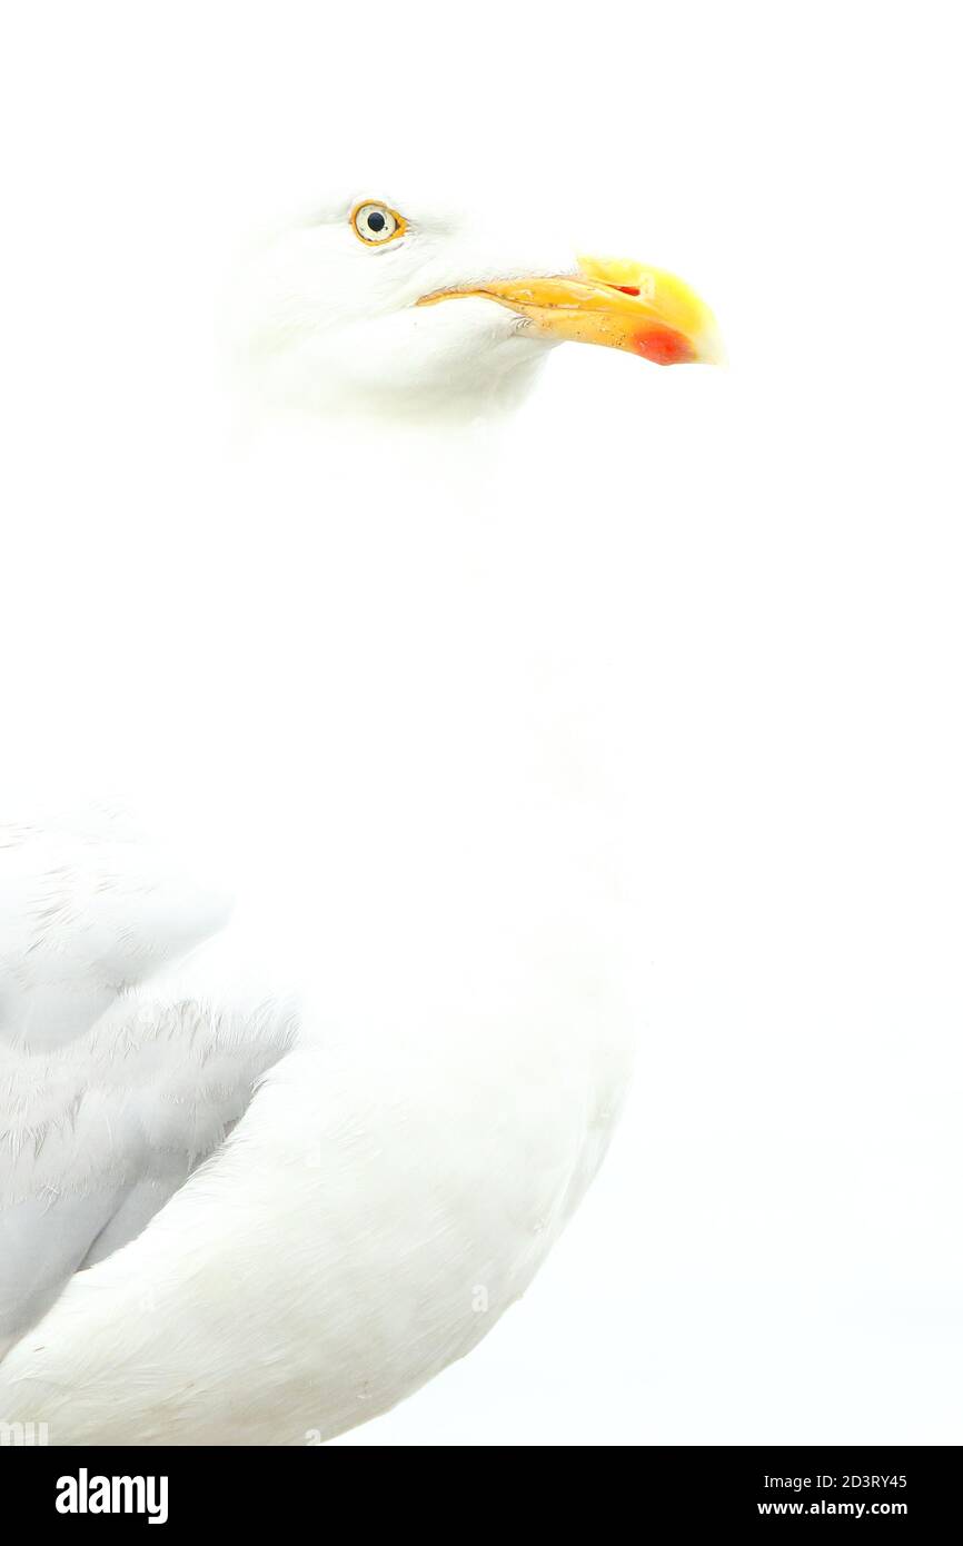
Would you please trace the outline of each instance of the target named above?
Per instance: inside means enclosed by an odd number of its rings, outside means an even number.
[[[564,342],[655,365],[716,363],[708,306],[674,275],[575,257],[373,187],[271,232],[235,291],[233,332],[269,400],[322,411],[471,417],[513,407]]]

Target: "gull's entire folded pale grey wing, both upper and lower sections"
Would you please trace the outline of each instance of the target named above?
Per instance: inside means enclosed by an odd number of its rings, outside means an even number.
[[[121,815],[0,827],[0,1357],[226,1141],[294,1016],[165,972],[216,932]]]

